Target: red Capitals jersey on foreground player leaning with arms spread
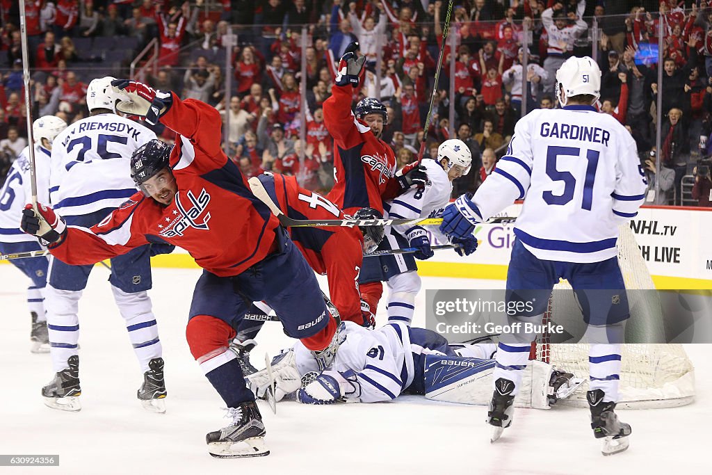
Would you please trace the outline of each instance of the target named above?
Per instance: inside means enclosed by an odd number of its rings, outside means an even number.
[[[221,149],[219,113],[173,95],[160,120],[176,132],[169,158],[178,187],[173,202],[165,207],[138,192],[91,229],[68,226],[52,254],[66,263],[89,264],[147,242],[167,242],[221,277],[236,276],[264,259],[273,250],[279,222]]]

